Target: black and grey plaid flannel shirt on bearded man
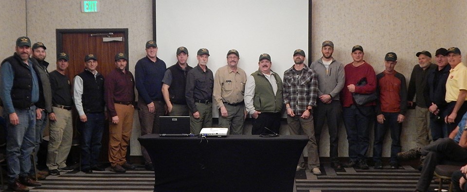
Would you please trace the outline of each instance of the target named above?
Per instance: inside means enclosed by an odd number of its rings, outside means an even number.
[[[315,71],[304,66],[302,74],[292,68],[284,71],[284,104],[289,104],[295,115],[301,115],[308,105],[316,106],[318,96],[318,76]]]

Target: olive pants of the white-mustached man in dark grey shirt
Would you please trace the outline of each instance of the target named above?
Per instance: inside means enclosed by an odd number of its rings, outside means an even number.
[[[198,108],[199,118],[195,119],[193,112],[190,111],[190,131],[198,135],[202,128],[213,126],[213,103],[195,103],[195,105]]]

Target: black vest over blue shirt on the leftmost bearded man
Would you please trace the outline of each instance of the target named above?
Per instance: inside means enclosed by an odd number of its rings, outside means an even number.
[[[33,77],[31,70],[29,70],[29,66],[21,60],[21,57],[19,57],[16,52],[13,56],[3,60],[1,65],[3,65],[5,61],[8,61],[15,71],[15,78],[13,79],[13,87],[11,88],[10,94],[13,106],[15,108],[25,109],[34,105],[34,103],[31,102]]]

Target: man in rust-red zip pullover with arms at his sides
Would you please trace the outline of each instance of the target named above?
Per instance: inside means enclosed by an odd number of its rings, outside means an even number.
[[[385,70],[377,74],[378,93],[375,124],[375,142],[373,144],[373,161],[375,169],[382,169],[381,161],[383,152],[383,141],[386,131],[391,132],[391,158],[389,165],[391,169],[398,169],[397,153],[401,151],[400,134],[402,132],[402,122],[407,112],[407,84],[405,76],[394,70],[397,64],[395,52],[388,52],[384,57]]]

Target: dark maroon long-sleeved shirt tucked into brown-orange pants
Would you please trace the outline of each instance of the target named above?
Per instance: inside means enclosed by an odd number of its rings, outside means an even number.
[[[104,88],[104,97],[110,117],[117,116],[114,105],[116,102],[135,101],[135,79],[128,70],[125,73],[119,69],[110,71],[105,79]]]

